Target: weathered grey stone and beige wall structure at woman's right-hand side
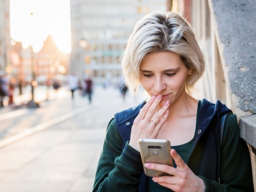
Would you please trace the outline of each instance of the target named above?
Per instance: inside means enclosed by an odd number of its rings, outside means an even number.
[[[256,191],[256,8],[254,0],[191,0],[191,25],[204,52],[202,96],[237,115],[248,143]]]

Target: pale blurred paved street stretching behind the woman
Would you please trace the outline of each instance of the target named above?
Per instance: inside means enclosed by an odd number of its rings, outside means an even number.
[[[113,115],[142,101],[95,86],[92,104],[68,88],[38,87],[40,108],[0,109],[0,191],[92,191],[106,127]],[[29,100],[29,88],[15,102]],[[48,97],[48,100],[46,100]]]

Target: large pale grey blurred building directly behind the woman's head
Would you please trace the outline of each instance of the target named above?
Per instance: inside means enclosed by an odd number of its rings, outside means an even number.
[[[166,0],[70,1],[72,51],[69,72],[95,83],[117,83],[120,57],[138,19],[166,10]]]

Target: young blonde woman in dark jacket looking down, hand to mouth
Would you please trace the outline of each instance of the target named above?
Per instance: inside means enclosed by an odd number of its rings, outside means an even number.
[[[136,93],[141,85],[150,99],[109,122],[93,191],[253,191],[236,115],[225,122],[218,164],[216,126],[230,109],[189,95],[204,67],[195,34],[182,17],[154,12],[137,22],[122,68],[129,90]],[[174,166],[142,164],[141,138],[169,140]],[[172,176],[146,177],[143,166]]]

